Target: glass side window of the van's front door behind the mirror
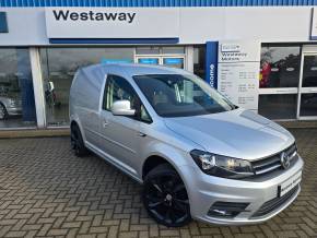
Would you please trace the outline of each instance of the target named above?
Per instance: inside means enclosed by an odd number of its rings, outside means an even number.
[[[103,109],[111,110],[111,106],[116,100],[129,100],[131,108],[137,110],[138,115],[136,119],[152,122],[150,115],[129,82],[121,76],[108,75],[103,99]]]

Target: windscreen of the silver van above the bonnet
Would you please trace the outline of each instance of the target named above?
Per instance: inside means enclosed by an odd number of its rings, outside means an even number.
[[[193,75],[146,74],[134,75],[133,80],[161,117],[189,117],[236,108]]]

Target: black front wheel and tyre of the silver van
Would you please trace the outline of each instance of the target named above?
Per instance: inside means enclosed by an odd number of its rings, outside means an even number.
[[[185,185],[168,164],[158,165],[145,176],[142,193],[149,215],[158,224],[180,227],[191,221]]]

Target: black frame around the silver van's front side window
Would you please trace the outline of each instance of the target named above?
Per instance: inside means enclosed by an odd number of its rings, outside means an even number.
[[[104,83],[104,92],[103,92],[103,97],[102,97],[101,109],[113,114],[110,109],[107,109],[106,108],[106,104],[107,104],[107,96],[106,96],[106,94],[107,94],[107,86],[109,85],[109,82],[110,82],[110,79],[111,78],[120,78],[121,80],[124,80],[127,83],[127,85],[131,87],[131,92],[132,92],[133,96],[137,97],[136,99],[137,99],[137,107],[138,108],[136,108],[136,115],[134,116],[121,116],[121,117],[127,117],[127,118],[130,118],[130,119],[133,119],[133,120],[137,120],[137,121],[140,121],[140,122],[144,122],[144,123],[148,123],[148,124],[152,123],[153,122],[153,119],[152,119],[151,115],[149,114],[149,110],[146,109],[145,105],[143,104],[143,102],[139,97],[138,93],[136,92],[134,87],[130,84],[130,82],[127,79],[125,79],[121,75],[117,75],[117,74],[113,74],[113,73],[109,73],[109,74],[106,75],[106,81]],[[142,105],[144,107],[144,110],[149,115],[149,118],[150,118],[149,121],[143,120],[141,118],[141,106]]]

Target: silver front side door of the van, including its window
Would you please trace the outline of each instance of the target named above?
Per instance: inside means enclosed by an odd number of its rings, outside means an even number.
[[[113,103],[122,99],[134,105],[136,94],[132,86],[124,78],[108,75],[101,112],[99,146],[116,165],[137,176],[140,121],[133,117],[114,116],[110,111]]]

